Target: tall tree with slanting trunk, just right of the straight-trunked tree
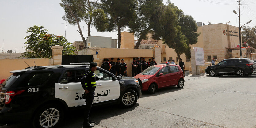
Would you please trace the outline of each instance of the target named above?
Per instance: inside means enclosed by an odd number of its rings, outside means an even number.
[[[129,32],[133,32],[138,38],[134,48],[139,48],[142,40],[148,39],[149,31],[153,31],[152,27],[157,25],[154,22],[158,14],[158,8],[163,5],[162,0],[138,0],[139,7],[136,10],[136,19],[129,23]]]

